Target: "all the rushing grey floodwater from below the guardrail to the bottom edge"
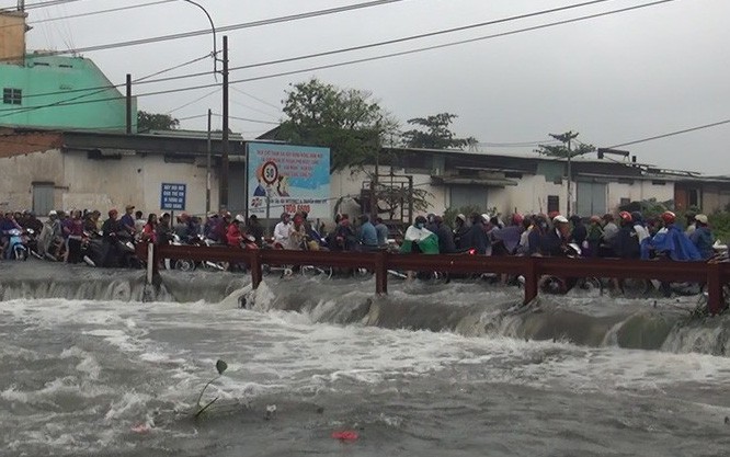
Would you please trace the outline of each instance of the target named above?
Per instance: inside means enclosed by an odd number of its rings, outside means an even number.
[[[0,455],[728,455],[730,325],[695,297],[163,283],[141,302],[140,272],[3,266]]]

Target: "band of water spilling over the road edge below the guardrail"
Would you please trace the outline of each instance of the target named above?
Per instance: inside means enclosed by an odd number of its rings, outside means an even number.
[[[56,269],[57,270],[57,269]],[[49,279],[21,272],[0,282],[3,300],[142,301],[149,298],[142,272],[71,267]],[[385,297],[374,281],[267,276],[250,290],[248,275],[220,272],[163,272],[158,301],[224,302],[262,312],[290,311],[315,322],[365,324],[386,329],[449,331],[466,336],[503,335],[521,340],[560,340],[578,345],[618,346],[726,355],[730,318],[692,318],[697,297],[615,298],[571,292],[543,295],[522,306],[522,290],[484,283],[433,285],[392,282]]]

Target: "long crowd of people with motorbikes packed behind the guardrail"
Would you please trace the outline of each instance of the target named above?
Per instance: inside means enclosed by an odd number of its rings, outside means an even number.
[[[0,220],[3,258],[10,256],[13,229],[35,233],[34,250],[50,260],[119,266],[119,243],[137,240],[152,243],[197,243],[229,247],[258,247],[290,250],[374,251],[392,248],[391,232],[381,218],[361,215],[352,222],[338,215],[334,226],[315,227],[306,213],[283,213],[269,239],[255,215],[248,219],[228,212],[210,213],[203,220],[181,213],[172,220],[170,213],[149,214],[127,205],[124,214],[111,209],[102,221],[99,210],[48,213],[39,220],[32,212],[5,213]],[[401,252],[458,253],[482,255],[582,255],[591,258],[649,259],[663,255],[672,260],[703,260],[714,254],[714,237],[705,215],[688,215],[685,228],[672,212],[645,219],[641,213],[620,212],[569,218],[559,215],[513,214],[509,224],[498,216],[459,214],[454,227],[444,218],[419,216],[400,237]],[[85,255],[89,240],[100,242],[95,259]],[[400,240],[399,240],[400,241]],[[578,248],[578,249],[575,249]],[[124,265],[122,265],[124,266]]]

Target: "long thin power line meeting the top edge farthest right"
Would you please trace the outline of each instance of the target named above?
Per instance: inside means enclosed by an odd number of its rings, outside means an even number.
[[[298,75],[298,73],[304,73],[304,72],[330,69],[330,68],[344,67],[344,66],[349,66],[349,65],[381,60],[381,59],[391,58],[391,57],[400,57],[400,56],[422,53],[422,52],[426,52],[426,50],[434,50],[434,49],[452,47],[452,46],[457,46],[457,45],[467,44],[467,43],[475,43],[475,42],[479,42],[479,41],[487,41],[487,39],[492,39],[492,38],[498,38],[498,37],[504,37],[504,36],[509,36],[509,35],[516,35],[516,34],[524,33],[524,32],[532,32],[532,31],[536,31],[536,30],[548,28],[548,27],[554,27],[554,26],[558,26],[558,25],[564,25],[564,24],[585,21],[585,20],[590,20],[590,19],[596,19],[596,18],[607,16],[607,15],[612,15],[612,14],[624,13],[624,12],[628,12],[628,11],[632,11],[632,10],[649,8],[649,7],[659,5],[659,4],[662,4],[662,3],[669,3],[669,2],[673,2],[673,1],[675,1],[675,0],[658,0],[658,1],[653,1],[653,2],[650,2],[650,3],[645,3],[645,4],[640,4],[640,5],[627,7],[627,8],[623,8],[623,9],[618,9],[618,10],[612,10],[612,11],[606,11],[606,12],[596,13],[596,14],[589,14],[589,15],[583,15],[583,16],[573,18],[573,19],[569,19],[569,20],[562,20],[562,21],[551,22],[551,23],[547,23],[547,24],[540,24],[540,25],[535,25],[535,26],[531,26],[531,27],[518,28],[518,30],[514,30],[514,31],[510,31],[510,32],[502,32],[502,33],[498,33],[498,34],[480,36],[480,37],[476,37],[476,38],[461,39],[461,41],[457,41],[457,42],[450,42],[450,43],[445,43],[445,44],[434,45],[434,46],[426,46],[426,47],[421,47],[421,48],[415,48],[415,49],[410,49],[410,50],[403,50],[403,52],[398,52],[398,53],[390,53],[390,54],[385,54],[385,55],[380,55],[380,56],[373,56],[373,57],[365,57],[365,58],[361,58],[361,59],[346,60],[346,61],[337,62],[337,64],[327,64],[327,65],[315,66],[315,67],[309,67],[309,68],[305,68],[305,69],[283,71],[283,72],[277,72],[277,73],[263,75],[263,76],[259,76],[259,77],[238,79],[238,80],[230,81],[230,84],[238,84],[238,83],[243,83],[243,82],[252,82],[252,81],[259,81],[259,80],[264,80],[264,79],[272,79],[272,78],[278,78],[278,77],[284,77],[284,76],[292,76],[292,75]],[[344,52],[344,50],[341,50],[341,52]],[[300,58],[299,57],[292,58],[292,60],[298,60],[298,59],[300,59]],[[252,65],[248,65],[248,66],[243,66],[243,67],[237,67],[236,69],[250,69],[250,68],[255,68],[255,67],[265,66],[265,65],[272,65],[272,64],[271,62],[252,64]],[[202,75],[207,75],[207,72],[202,73]],[[199,76],[199,75],[197,75],[197,76]],[[176,80],[176,79],[183,79],[183,78],[189,78],[189,77],[190,76],[172,77],[172,78],[168,78],[167,80]],[[159,82],[159,81],[160,80],[156,80],[156,81],[150,80],[150,81],[145,81],[145,82]],[[119,84],[119,85],[123,85],[123,84]],[[164,90],[164,91],[157,91],[157,92],[137,94],[136,96],[140,98],[140,96],[169,94],[169,93],[175,93],[175,92],[183,92],[183,91],[187,91],[187,90],[213,88],[213,87],[216,87],[216,85],[217,84],[203,84],[203,85],[194,85],[194,87],[187,87],[187,88],[178,88],[178,89],[170,89],[170,90]],[[121,99],[121,98],[117,96],[117,98],[111,98],[111,99],[102,99],[102,100],[96,100],[96,102],[118,100],[118,99]],[[71,102],[71,103],[65,103],[64,102],[62,105],[89,103],[89,101],[73,103],[73,100],[76,100],[76,99],[65,101],[65,102]],[[54,105],[57,105],[57,104],[59,104],[59,103],[55,103]],[[35,106],[35,108],[42,108],[42,107],[45,107],[45,106],[43,106],[43,105]],[[2,112],[16,112],[19,110],[23,110],[23,108],[5,108],[5,110],[0,110],[0,113],[2,113]],[[0,117],[3,117],[3,116],[0,116]]]

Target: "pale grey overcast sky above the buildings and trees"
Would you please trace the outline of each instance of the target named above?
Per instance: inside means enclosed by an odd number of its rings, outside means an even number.
[[[28,0],[26,4],[42,0]],[[579,0],[401,0],[338,14],[227,32],[230,66],[261,64],[350,46],[483,23]],[[153,0],[76,0],[28,9],[28,21],[146,4]],[[249,23],[366,0],[198,0],[216,26]],[[583,15],[651,3],[611,0],[569,11],[513,20],[430,38],[231,72],[231,80],[381,56],[432,45],[516,31]],[[0,0],[14,7],[15,0]],[[370,91],[406,124],[411,117],[457,114],[454,130],[474,136],[483,151],[531,153],[528,144],[549,133],[579,132],[579,139],[611,147],[730,119],[729,0],[674,0],[639,10],[528,31],[400,57],[309,70],[233,85],[231,116],[276,123],[288,84],[316,77],[339,87]],[[33,24],[30,49],[68,49],[155,37],[208,27],[196,7],[182,0],[84,18]],[[218,36],[218,46],[221,37]],[[212,37],[196,36],[134,47],[83,53],[115,83],[202,57]],[[174,72],[212,70],[202,60]],[[215,83],[212,75],[135,88],[145,92]],[[138,107],[179,118],[220,113],[215,89],[140,96]],[[251,96],[253,95],[253,96]],[[196,99],[201,99],[197,100]],[[186,105],[184,107],[181,107]],[[219,127],[220,118],[214,121]],[[246,138],[273,124],[231,121]],[[205,128],[205,118],[182,122]],[[495,144],[509,144],[499,149]],[[664,168],[730,174],[726,152],[730,124],[621,149],[640,162]],[[518,147],[517,147],[518,146]]]

